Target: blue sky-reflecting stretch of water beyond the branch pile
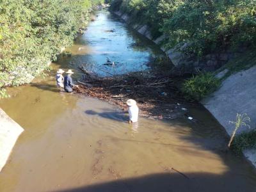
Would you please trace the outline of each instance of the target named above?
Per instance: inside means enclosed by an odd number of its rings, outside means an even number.
[[[109,32],[112,29],[113,32]],[[136,43],[139,46],[134,46]],[[145,70],[150,56],[161,54],[152,46],[148,45],[147,40],[134,35],[134,31],[128,30],[126,24],[113,18],[109,12],[102,11],[97,20],[90,23],[86,33],[77,38],[75,45],[68,48],[68,51],[72,51],[68,65],[76,68],[90,63],[100,76],[108,75],[106,72],[125,74]],[[103,65],[107,58],[115,62],[115,68]]]

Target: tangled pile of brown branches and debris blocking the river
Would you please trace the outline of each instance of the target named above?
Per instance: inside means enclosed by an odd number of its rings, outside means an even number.
[[[134,99],[138,102],[142,116],[164,118],[168,113],[168,118],[177,118],[184,115],[177,114],[177,101],[184,101],[175,86],[179,79],[150,71],[98,77],[86,71],[84,67],[80,69],[85,75],[83,80],[78,81],[79,88],[76,89],[78,93],[116,104],[124,110],[127,109],[126,100]],[[170,112],[175,113],[170,115]]]

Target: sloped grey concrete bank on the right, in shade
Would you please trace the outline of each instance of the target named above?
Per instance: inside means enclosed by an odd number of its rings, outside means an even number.
[[[255,77],[256,66],[232,74],[223,81],[219,90],[202,100],[202,104],[223,125],[229,136],[234,130],[234,124],[229,124],[228,121],[236,121],[237,113],[246,113],[251,120],[251,128],[241,127],[237,134],[256,128]],[[256,150],[244,150],[243,154],[256,167]]]

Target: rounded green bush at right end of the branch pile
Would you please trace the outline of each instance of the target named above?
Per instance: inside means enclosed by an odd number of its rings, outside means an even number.
[[[204,99],[220,86],[220,80],[211,73],[202,73],[187,79],[182,84],[182,92],[188,100]]]

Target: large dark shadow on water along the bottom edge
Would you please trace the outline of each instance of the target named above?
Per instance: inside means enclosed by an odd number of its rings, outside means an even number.
[[[179,170],[166,168],[167,173],[156,173],[135,177],[132,179],[120,179],[80,188],[64,189],[59,192],[156,192],[156,191],[255,191],[255,187],[243,188],[243,184],[233,182],[236,175],[230,177],[230,173],[216,175],[210,173],[180,173]]]

